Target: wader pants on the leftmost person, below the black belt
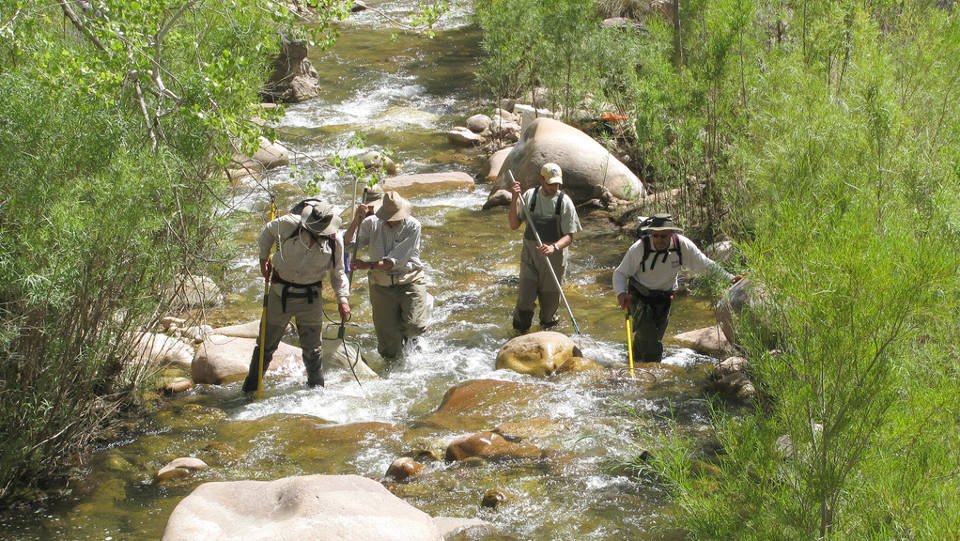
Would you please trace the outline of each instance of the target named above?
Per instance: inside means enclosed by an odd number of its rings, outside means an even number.
[[[303,364],[307,368],[307,385],[311,387],[323,385],[321,367],[323,358],[321,347],[323,339],[323,298],[317,295],[312,303],[308,303],[305,298],[287,298],[287,311],[284,312],[280,300],[282,288],[283,285],[281,284],[270,286],[270,294],[267,296],[266,325],[261,322],[264,330],[264,340],[261,342],[261,337],[257,337],[257,346],[253,349],[253,357],[250,359],[250,369],[247,371],[247,378],[243,382],[243,391],[246,393],[257,390],[260,344],[264,344],[263,371],[266,372],[291,318],[296,319],[297,335],[300,336],[300,347],[303,348]]]

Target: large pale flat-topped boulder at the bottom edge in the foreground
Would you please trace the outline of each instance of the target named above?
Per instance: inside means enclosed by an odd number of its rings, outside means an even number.
[[[449,531],[451,524],[444,526]],[[162,539],[443,541],[443,533],[430,515],[376,481],[308,475],[204,483],[177,504]]]

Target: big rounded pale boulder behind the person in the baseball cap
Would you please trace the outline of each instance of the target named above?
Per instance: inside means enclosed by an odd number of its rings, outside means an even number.
[[[523,130],[507,156],[491,194],[509,189],[510,175],[526,188],[537,184],[540,167],[553,162],[563,169],[563,189],[577,203],[594,198],[634,199],[643,183],[603,145],[586,133],[552,118],[538,118]]]

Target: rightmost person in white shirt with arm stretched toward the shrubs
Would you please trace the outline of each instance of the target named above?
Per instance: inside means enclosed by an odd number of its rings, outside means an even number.
[[[613,272],[617,304],[630,310],[633,354],[641,362],[660,362],[663,357],[663,334],[682,267],[718,272],[731,281],[739,279],[705,256],[681,231],[669,214],[643,219],[640,239]]]

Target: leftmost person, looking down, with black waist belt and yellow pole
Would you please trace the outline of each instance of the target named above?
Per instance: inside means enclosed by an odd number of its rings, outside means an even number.
[[[257,242],[260,273],[270,280],[267,294],[266,321],[261,324],[263,336],[257,340],[250,360],[250,370],[243,382],[243,392],[257,390],[257,368],[263,345],[263,371],[267,371],[273,353],[291,318],[296,319],[303,364],[307,368],[307,385],[323,386],[321,370],[323,330],[322,280],[330,274],[330,284],[337,295],[340,317],[350,316],[343,238],[337,232],[340,217],[333,207],[318,199],[306,199],[289,214],[270,221]],[[277,246],[271,256],[270,250]]]

